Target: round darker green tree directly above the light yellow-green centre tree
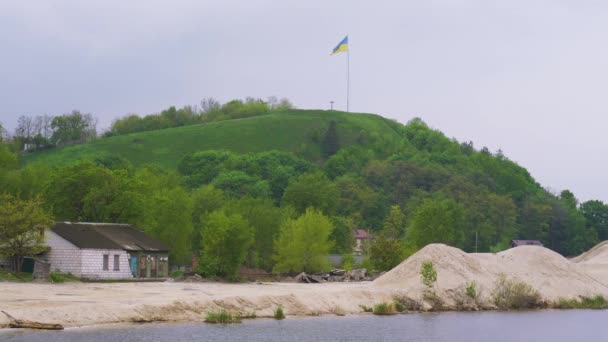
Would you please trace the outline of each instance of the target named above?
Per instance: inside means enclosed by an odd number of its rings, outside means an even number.
[[[335,185],[323,173],[305,173],[287,186],[283,195],[283,205],[294,207],[298,213],[307,208],[316,208],[331,215],[338,203]]]

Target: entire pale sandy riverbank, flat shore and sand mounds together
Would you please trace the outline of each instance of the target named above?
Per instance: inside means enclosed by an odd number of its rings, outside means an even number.
[[[437,271],[433,296],[420,269]],[[272,317],[281,306],[289,316],[354,315],[379,303],[405,310],[495,309],[501,277],[536,290],[551,306],[560,299],[608,297],[608,245],[568,260],[546,248],[523,246],[492,253],[465,253],[441,244],[426,246],[374,282],[360,283],[0,283],[0,309],[19,319],[66,327],[132,322],[203,321],[226,310],[243,317]],[[475,298],[467,285],[475,284]],[[438,303],[439,306],[438,306]],[[0,327],[8,324],[0,316]]]

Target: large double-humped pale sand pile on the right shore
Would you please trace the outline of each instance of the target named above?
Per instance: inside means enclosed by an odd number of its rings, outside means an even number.
[[[482,288],[482,296],[491,295],[499,275],[516,278],[536,288],[547,300],[608,294],[605,282],[590,275],[579,264],[538,246],[521,246],[497,254],[468,254],[460,249],[441,244],[428,245],[378,278],[374,284],[403,289],[410,297],[422,296],[425,290],[420,280],[420,267],[432,261],[437,270],[437,292],[445,296],[475,281]]]

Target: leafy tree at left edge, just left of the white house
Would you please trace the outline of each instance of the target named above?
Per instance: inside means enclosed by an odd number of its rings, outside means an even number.
[[[21,272],[24,256],[46,249],[44,231],[53,223],[40,197],[21,200],[0,195],[0,255],[12,259],[12,268]]]

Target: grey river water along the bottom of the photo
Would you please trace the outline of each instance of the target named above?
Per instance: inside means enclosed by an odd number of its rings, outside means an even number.
[[[445,312],[0,331],[0,341],[608,341],[608,311]]]

